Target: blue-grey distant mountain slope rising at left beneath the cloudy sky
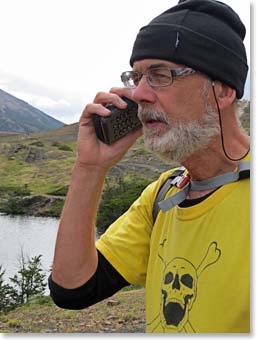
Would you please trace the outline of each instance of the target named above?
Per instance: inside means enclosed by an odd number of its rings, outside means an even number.
[[[0,89],[0,131],[31,133],[54,130],[64,125]]]

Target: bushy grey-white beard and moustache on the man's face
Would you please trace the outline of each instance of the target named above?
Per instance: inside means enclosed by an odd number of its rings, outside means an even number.
[[[211,139],[220,134],[218,115],[205,103],[203,118],[190,123],[173,125],[163,111],[153,111],[147,105],[139,107],[139,119],[143,123],[145,146],[168,162],[181,163],[196,151],[205,149]],[[159,119],[167,123],[168,131],[149,129],[144,125],[148,119]]]

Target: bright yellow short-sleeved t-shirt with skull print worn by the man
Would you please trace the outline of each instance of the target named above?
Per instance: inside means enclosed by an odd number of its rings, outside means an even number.
[[[170,173],[144,190],[97,248],[128,282],[145,285],[147,332],[249,332],[249,179],[159,212],[153,227],[153,202]]]

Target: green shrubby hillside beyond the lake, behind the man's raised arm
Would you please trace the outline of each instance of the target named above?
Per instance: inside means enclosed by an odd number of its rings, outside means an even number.
[[[242,124],[249,132],[249,102],[242,103],[242,110]],[[76,157],[77,134],[78,124],[32,134],[0,133],[0,211],[59,216]],[[147,185],[175,165],[150,153],[140,138],[110,170],[104,190],[117,183],[138,187],[140,180]]]

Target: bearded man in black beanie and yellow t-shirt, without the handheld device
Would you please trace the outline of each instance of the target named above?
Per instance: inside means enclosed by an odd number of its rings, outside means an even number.
[[[248,70],[244,35],[225,4],[180,1],[140,30],[125,88],[86,106],[49,278],[57,305],[84,308],[139,283],[147,332],[249,332],[249,137],[236,115]],[[108,116],[109,103],[125,108],[122,96],[139,104],[146,145],[186,170],[154,217],[174,169],[95,245],[106,174],[142,131],[105,145],[92,114]]]

